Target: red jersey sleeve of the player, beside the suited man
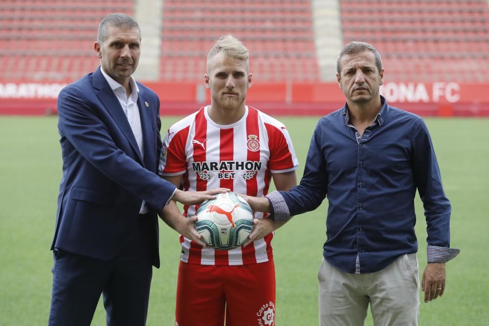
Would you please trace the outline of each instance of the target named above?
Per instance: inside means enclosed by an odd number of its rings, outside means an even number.
[[[187,170],[187,155],[185,145],[187,143],[189,126],[182,130],[168,130],[163,139],[161,155],[159,158],[158,172],[161,176],[184,174]]]

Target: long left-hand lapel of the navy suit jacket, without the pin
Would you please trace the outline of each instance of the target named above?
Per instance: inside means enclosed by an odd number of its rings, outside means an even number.
[[[139,152],[139,148],[137,147],[137,142],[136,138],[134,138],[133,130],[131,129],[129,121],[127,120],[127,117],[121,108],[119,100],[112,91],[112,88],[105,80],[104,75],[102,75],[100,67],[92,74],[92,78],[93,87],[95,89],[98,89],[98,91],[95,92],[97,94],[97,97],[100,99],[100,101],[102,101],[112,119],[114,119],[117,126],[119,126],[122,133],[126,136],[134,152],[136,152],[137,157],[139,158],[139,162],[142,163],[143,160],[141,158],[141,152]],[[144,133],[145,132],[143,130],[143,134]],[[144,138],[144,140],[146,140],[146,138]]]

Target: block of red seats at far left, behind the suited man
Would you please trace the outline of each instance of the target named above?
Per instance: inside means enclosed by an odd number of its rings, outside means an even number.
[[[99,65],[92,47],[100,20],[133,14],[134,0],[2,0],[0,80],[71,81]]]

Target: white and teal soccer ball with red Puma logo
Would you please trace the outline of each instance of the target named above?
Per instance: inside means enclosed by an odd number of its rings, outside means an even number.
[[[195,222],[202,240],[214,249],[229,250],[241,246],[253,230],[253,211],[233,192],[218,194],[204,201],[197,210]]]

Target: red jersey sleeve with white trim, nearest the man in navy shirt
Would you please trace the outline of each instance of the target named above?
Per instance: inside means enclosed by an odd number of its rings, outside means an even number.
[[[295,155],[294,146],[289,132],[282,124],[265,123],[268,134],[268,148],[270,158],[268,166],[271,173],[285,173],[295,171],[299,167],[299,161]]]

